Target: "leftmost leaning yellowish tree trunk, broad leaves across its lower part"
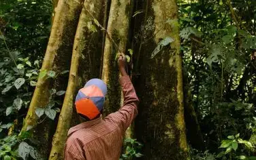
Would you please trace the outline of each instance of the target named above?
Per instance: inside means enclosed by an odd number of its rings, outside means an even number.
[[[74,36],[82,10],[82,1],[59,1],[40,75],[44,75],[48,71],[60,73],[61,71],[69,70]],[[61,76],[55,79],[49,79],[47,75],[39,76],[29,111],[22,127],[21,132],[26,132],[33,127],[30,131],[33,133],[33,138],[40,141],[38,149],[44,157],[48,156],[50,151],[50,142],[53,134],[51,132],[54,131],[55,125],[49,119],[38,124],[39,119],[35,114],[35,110],[36,108],[45,108],[48,105],[49,89],[53,87],[57,91],[60,89],[65,90],[67,87],[65,81],[67,79]]]

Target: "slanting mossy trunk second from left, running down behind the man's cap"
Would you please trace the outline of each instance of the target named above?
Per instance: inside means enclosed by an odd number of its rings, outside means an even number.
[[[103,20],[102,13],[103,0],[84,1],[84,8],[80,15],[74,41],[67,92],[59,116],[57,130],[52,140],[49,159],[63,159],[67,131],[71,127],[74,96],[76,96],[79,87],[82,87],[86,81],[99,76],[101,32],[95,31],[97,26],[93,25],[91,14],[101,23]]]

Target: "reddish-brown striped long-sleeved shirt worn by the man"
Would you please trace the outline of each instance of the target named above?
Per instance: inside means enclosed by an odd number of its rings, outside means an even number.
[[[65,144],[65,159],[76,160],[117,160],[125,130],[138,114],[138,97],[129,79],[120,79],[123,90],[123,107],[106,118],[95,119],[71,127]]]

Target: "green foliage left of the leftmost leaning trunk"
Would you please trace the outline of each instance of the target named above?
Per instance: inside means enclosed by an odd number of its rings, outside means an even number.
[[[50,34],[51,9],[50,0],[1,1],[0,159],[37,159],[39,155],[29,133],[17,134],[39,76]],[[25,148],[29,148],[29,155]]]

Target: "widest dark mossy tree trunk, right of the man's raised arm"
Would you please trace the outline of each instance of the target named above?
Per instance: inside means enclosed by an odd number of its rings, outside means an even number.
[[[135,89],[140,97],[135,134],[144,143],[144,159],[189,159],[182,92],[182,59],[175,0],[143,1],[144,23],[135,53]],[[138,21],[143,20],[138,18]],[[140,25],[138,22],[135,25]],[[172,37],[171,45],[151,58],[157,44]],[[136,47],[137,46],[137,47]],[[139,58],[139,59],[138,59]]]

